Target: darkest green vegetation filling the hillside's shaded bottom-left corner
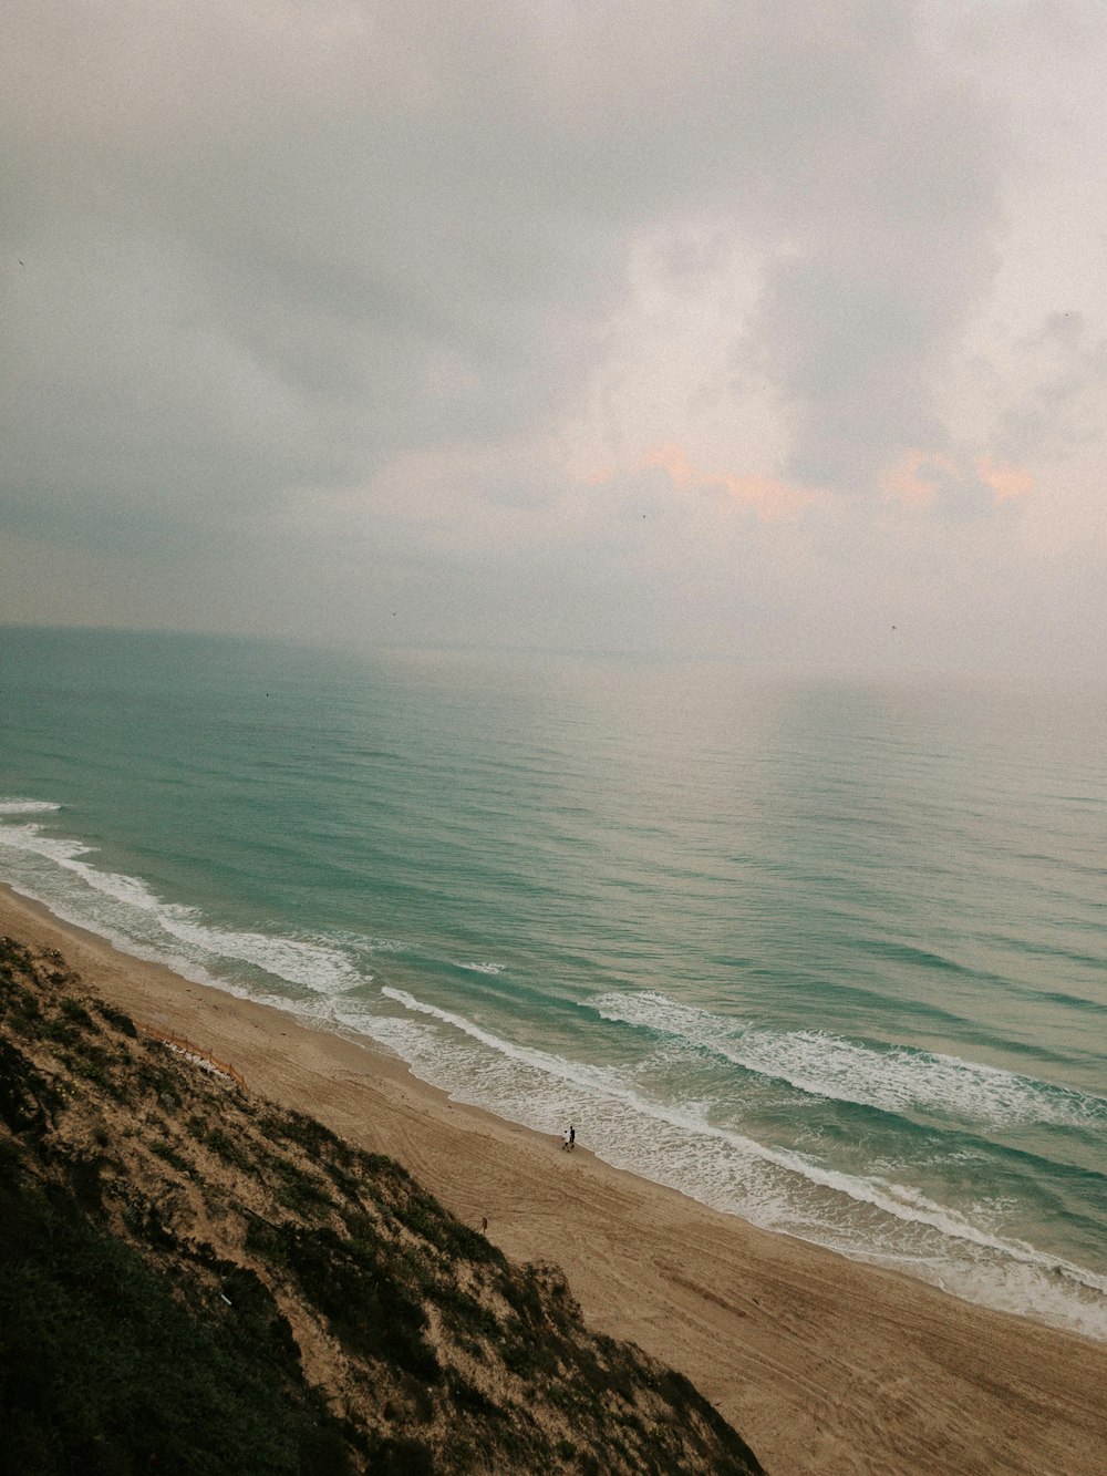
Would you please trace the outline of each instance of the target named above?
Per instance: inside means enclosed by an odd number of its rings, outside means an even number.
[[[0,1224],[6,1470],[351,1469],[317,1395],[244,1359],[241,1339],[182,1306],[66,1193],[6,1173]]]

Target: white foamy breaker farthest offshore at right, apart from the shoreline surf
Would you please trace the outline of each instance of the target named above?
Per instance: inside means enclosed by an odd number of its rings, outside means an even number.
[[[906,1045],[861,1045],[824,1030],[751,1026],[652,990],[598,995],[584,1005],[604,1020],[691,1042],[812,1097],[989,1128],[1107,1128],[1107,1098],[959,1057]]]

